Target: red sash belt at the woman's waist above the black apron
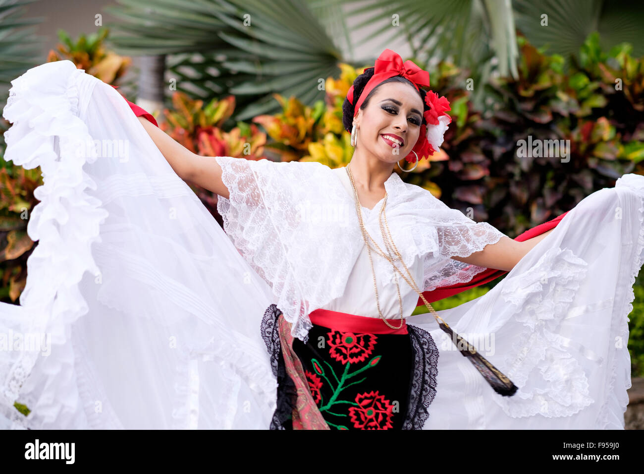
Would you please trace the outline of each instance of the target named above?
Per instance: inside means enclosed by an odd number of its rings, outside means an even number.
[[[372,318],[368,316],[359,316],[350,313],[341,313],[339,311],[323,310],[318,308],[311,311],[308,315],[313,324],[332,328],[338,331],[348,331],[352,333],[366,334],[407,334],[407,323],[403,320],[403,326],[400,329],[392,329],[387,326],[380,317]],[[401,325],[400,319],[389,319],[389,324],[398,327]]]

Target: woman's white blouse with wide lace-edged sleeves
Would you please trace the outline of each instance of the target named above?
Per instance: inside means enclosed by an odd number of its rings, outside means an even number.
[[[317,309],[379,317],[374,282],[355,213],[345,168],[317,162],[252,161],[216,157],[229,199],[217,210],[234,246],[272,290],[275,303],[292,323],[292,335],[306,340],[308,314]],[[348,187],[347,187],[348,186]],[[451,259],[466,257],[497,242],[503,233],[474,222],[428,190],[405,183],[397,173],[384,183],[386,217],[393,242],[421,291],[467,282],[485,270]],[[379,206],[363,208],[367,232],[385,250]],[[399,317],[397,273],[377,253],[374,270],[383,315]],[[399,277],[403,315],[418,294]]]

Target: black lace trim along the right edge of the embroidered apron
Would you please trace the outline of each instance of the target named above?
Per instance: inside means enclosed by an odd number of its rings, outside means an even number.
[[[403,430],[422,430],[430,417],[430,403],[436,395],[439,351],[427,331],[412,324],[407,324],[407,330],[415,360]]]

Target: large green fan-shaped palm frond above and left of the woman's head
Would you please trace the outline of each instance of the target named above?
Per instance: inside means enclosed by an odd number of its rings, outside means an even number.
[[[204,100],[237,95],[236,120],[280,110],[275,93],[296,95],[312,105],[324,98],[319,79],[339,74],[343,54],[333,38],[343,32],[343,24],[327,28],[340,5],[296,0],[117,3],[106,8],[123,21],[110,26],[117,52],[175,55],[178,59],[170,57],[167,64],[178,79],[177,90]]]

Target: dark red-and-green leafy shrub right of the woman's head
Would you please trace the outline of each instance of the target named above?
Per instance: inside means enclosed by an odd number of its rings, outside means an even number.
[[[432,76],[452,103],[455,120],[441,147],[449,160],[410,179],[431,179],[448,206],[471,209],[476,221],[511,236],[614,186],[624,173],[644,172],[644,62],[630,57],[630,46],[602,52],[591,34],[580,61],[564,73],[560,55],[546,55],[524,37],[518,44],[518,77],[485,85],[487,110],[471,107],[471,92],[462,88],[467,75],[439,69]],[[567,156],[545,147],[533,156],[520,152],[528,140],[570,146]]]

